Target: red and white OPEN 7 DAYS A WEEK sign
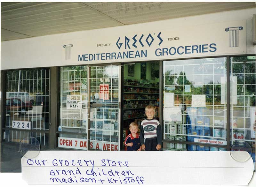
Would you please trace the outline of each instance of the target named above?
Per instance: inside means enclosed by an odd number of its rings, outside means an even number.
[[[88,146],[89,146],[90,149],[103,150],[103,151],[118,151],[119,150],[118,143],[90,140],[90,143],[88,145],[88,141],[89,140],[87,140],[87,139],[59,137],[58,138],[58,147],[88,150]]]

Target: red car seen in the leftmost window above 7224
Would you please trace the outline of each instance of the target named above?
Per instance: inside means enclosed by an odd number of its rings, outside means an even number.
[[[28,110],[33,109],[31,101],[23,102],[20,99],[6,99],[5,103],[6,114],[18,112],[20,115],[25,115]]]

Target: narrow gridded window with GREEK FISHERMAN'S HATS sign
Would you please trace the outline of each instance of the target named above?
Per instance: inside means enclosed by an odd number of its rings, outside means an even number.
[[[60,85],[60,137],[87,140],[87,66],[61,67]]]

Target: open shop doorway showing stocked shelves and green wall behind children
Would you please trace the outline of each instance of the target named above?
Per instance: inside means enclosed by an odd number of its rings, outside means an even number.
[[[155,106],[155,118],[159,120],[159,61],[124,64],[122,90],[124,147],[125,137],[130,134],[129,124],[136,122],[140,128],[140,122],[146,118],[147,105]]]

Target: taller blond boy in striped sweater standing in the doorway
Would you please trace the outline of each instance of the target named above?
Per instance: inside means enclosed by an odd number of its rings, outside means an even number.
[[[146,151],[160,150],[162,147],[162,129],[159,121],[154,118],[155,107],[148,105],[145,111],[147,119],[140,124],[141,149]]]

